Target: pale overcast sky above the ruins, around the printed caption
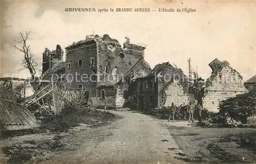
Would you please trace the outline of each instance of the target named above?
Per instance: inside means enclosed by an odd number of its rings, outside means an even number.
[[[193,8],[196,12],[66,12],[65,8]],[[45,48],[63,51],[87,35],[109,34],[120,44],[129,36],[132,43],[147,44],[145,60],[153,68],[169,61],[188,74],[187,60],[203,78],[208,63],[218,58],[245,76],[256,74],[254,2],[2,2],[1,77],[10,77],[21,68],[22,54],[10,49],[20,31],[31,31],[29,44],[38,61]],[[19,72],[23,78],[27,71]]]

